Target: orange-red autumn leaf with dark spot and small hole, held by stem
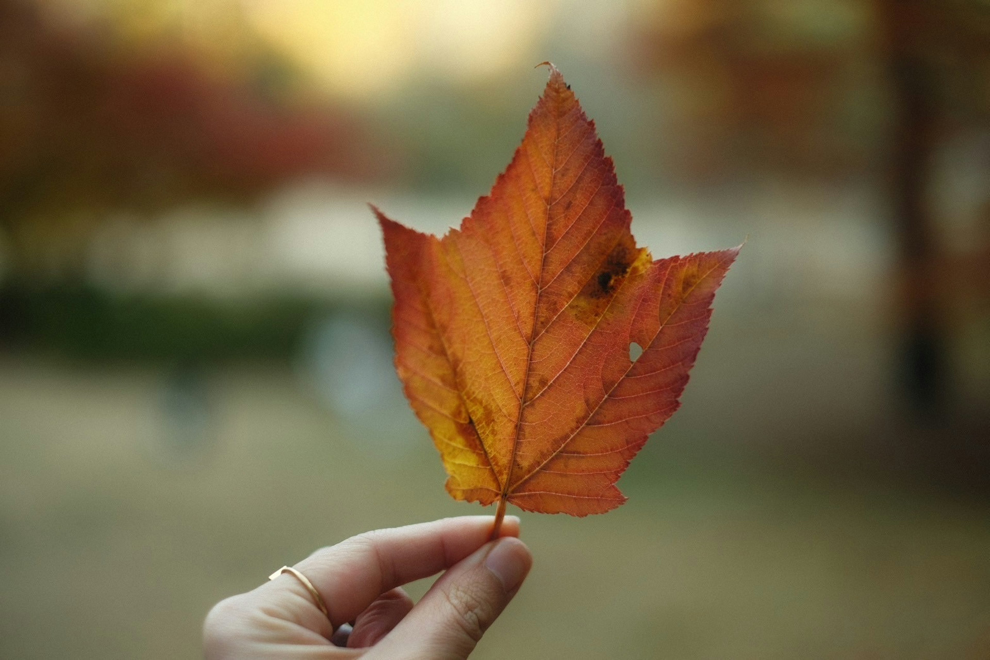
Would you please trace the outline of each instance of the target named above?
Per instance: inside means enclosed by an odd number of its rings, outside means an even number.
[[[460,229],[374,209],[396,370],[457,500],[601,514],[679,407],[739,248],[653,260],[595,125],[550,65],[522,144]],[[642,354],[631,357],[638,344]]]

